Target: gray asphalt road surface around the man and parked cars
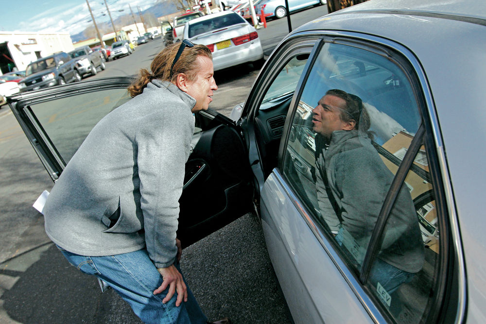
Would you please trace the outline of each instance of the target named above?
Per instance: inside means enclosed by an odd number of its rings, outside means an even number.
[[[325,6],[291,16],[293,25],[326,14]],[[269,21],[259,35],[266,54],[287,34],[286,19]],[[89,78],[136,75],[161,50],[160,38],[110,61]],[[246,98],[258,70],[251,65],[215,74],[210,107],[228,115]],[[32,204],[52,181],[6,106],[0,109],[0,323],[140,323],[130,307],[93,277],[78,272],[52,245]],[[183,251],[181,267],[210,320],[291,323],[255,214]]]

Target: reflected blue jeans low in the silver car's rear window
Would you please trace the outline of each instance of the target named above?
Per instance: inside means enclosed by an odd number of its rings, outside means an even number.
[[[375,287],[380,283],[384,290],[391,294],[397,290],[401,284],[412,281],[414,275],[415,273],[400,270],[397,267],[376,258],[373,267],[371,268],[369,280]]]

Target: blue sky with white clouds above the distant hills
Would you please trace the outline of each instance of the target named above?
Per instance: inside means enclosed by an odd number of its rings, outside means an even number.
[[[4,2],[8,1],[9,5]],[[109,21],[104,0],[88,0],[96,23]],[[78,34],[93,26],[86,0],[2,0],[0,31],[3,32],[68,32]],[[111,17],[130,14],[128,4],[137,15],[156,0],[106,0]],[[13,10],[5,10],[13,6]],[[124,11],[119,12],[118,10]],[[105,16],[102,16],[105,14]]]

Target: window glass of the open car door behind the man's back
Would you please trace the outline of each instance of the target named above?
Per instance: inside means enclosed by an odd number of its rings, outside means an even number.
[[[30,106],[65,163],[106,114],[130,100],[126,88],[100,90],[57,98]]]

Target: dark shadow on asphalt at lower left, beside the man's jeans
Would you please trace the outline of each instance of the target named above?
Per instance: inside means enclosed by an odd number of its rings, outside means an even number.
[[[72,267],[52,243],[0,267],[1,323],[140,323],[115,291],[102,293],[97,280]]]

